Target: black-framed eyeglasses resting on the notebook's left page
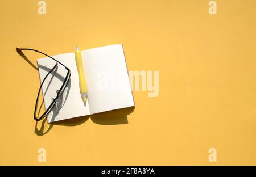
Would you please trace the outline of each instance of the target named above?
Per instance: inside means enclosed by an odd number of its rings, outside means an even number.
[[[53,57],[51,57],[51,56],[48,56],[48,54],[45,54],[45,53],[40,52],[40,51],[38,51],[38,50],[29,49],[29,48],[16,48],[16,49],[17,49],[17,50],[20,50],[20,51],[22,51],[22,50],[31,50],[31,51],[34,51],[34,52],[38,52],[38,53],[41,53],[41,54],[43,54],[43,55],[45,55],[45,56],[51,58],[52,60],[56,61],[55,66],[53,66],[53,68],[49,71],[49,73],[47,73],[46,77],[44,77],[44,79],[43,79],[43,81],[42,81],[42,83],[41,83],[41,85],[40,85],[39,91],[38,91],[38,96],[37,96],[37,98],[36,98],[35,111],[34,111],[34,120],[36,120],[36,121],[42,120],[44,117],[46,117],[46,116],[49,114],[49,112],[52,111],[53,107],[54,107],[55,104],[56,104],[57,99],[59,99],[59,96],[62,94],[62,92],[63,92],[63,91],[65,90],[65,88],[67,87],[68,82],[69,82],[69,79],[70,79],[70,77],[71,77],[70,69],[69,69],[67,66],[63,65],[61,62],[57,61],[55,58],[53,58]],[[46,80],[46,78],[48,77],[48,75],[51,74],[53,70],[57,69],[58,64],[64,66],[64,68],[68,71],[68,72],[67,72],[67,75],[66,75],[66,77],[65,77],[65,79],[64,79],[63,84],[62,84],[61,87],[60,87],[60,90],[56,90],[56,93],[57,93],[56,98],[52,99],[52,103],[51,103],[50,106],[46,109],[46,111],[43,113],[43,115],[40,116],[40,117],[38,117],[38,116],[36,116],[36,110],[38,109],[38,100],[39,100],[39,95],[40,95],[40,91],[41,91],[41,89],[42,89],[43,83],[44,83],[44,81]]]

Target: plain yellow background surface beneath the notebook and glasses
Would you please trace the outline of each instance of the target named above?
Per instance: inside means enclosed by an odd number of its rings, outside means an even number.
[[[39,15],[38,1],[1,0],[0,164],[256,165],[256,1],[218,0],[217,15],[208,2],[47,0]],[[134,91],[127,120],[110,112],[35,133],[39,75],[15,47],[54,55],[116,43],[129,70],[159,70],[159,96]]]

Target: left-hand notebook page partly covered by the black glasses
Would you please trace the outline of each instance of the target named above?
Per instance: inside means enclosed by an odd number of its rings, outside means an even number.
[[[86,106],[84,106],[84,102],[82,102],[81,95],[80,95],[80,89],[79,89],[79,79],[78,79],[78,73],[76,68],[76,61],[75,61],[75,53],[65,53],[65,54],[59,54],[56,56],[52,56],[56,60],[63,63],[65,66],[67,66],[71,70],[71,80],[69,81],[68,86],[70,87],[69,92],[65,90],[65,94],[68,94],[65,102],[63,102],[63,106],[60,108],[59,112],[55,112],[54,110],[49,113],[47,116],[48,123],[53,121],[59,121],[64,119],[70,119],[73,117],[79,117],[79,116],[85,116],[90,115],[89,111],[89,101],[86,103]],[[40,82],[43,81],[43,78],[46,76],[49,70],[53,68],[53,66],[56,64],[56,61],[52,60],[51,58],[41,58],[37,60],[38,62],[38,68],[39,68],[39,77]],[[60,64],[58,64],[57,73],[55,74],[55,77],[53,77],[51,85],[52,86],[60,86],[63,81],[61,81],[65,78],[65,75],[67,74],[67,70]],[[64,77],[64,78],[63,78]],[[46,91],[46,85],[42,87],[43,94]],[[48,87],[47,94],[49,95],[56,95],[56,90],[53,89],[54,87]],[[45,96],[48,96],[48,95]],[[54,97],[55,98],[55,97]],[[40,104],[40,103],[39,103]],[[51,104],[51,98],[44,99],[44,107],[48,108]]]

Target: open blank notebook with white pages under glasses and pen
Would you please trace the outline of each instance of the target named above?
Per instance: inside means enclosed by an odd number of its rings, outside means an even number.
[[[75,53],[52,56],[71,70],[71,79],[63,93],[59,110],[51,111],[47,116],[48,123],[134,106],[122,44],[83,50],[81,55],[88,91],[86,106],[80,95]],[[42,82],[56,62],[51,58],[40,58],[37,62],[40,82]],[[64,79],[61,77],[65,77],[66,73],[64,67],[58,67],[51,85],[61,85]],[[43,85],[43,95],[46,89],[47,92],[56,92],[53,87],[47,88]],[[47,95],[44,95],[44,107],[48,108],[51,99],[46,98]]]

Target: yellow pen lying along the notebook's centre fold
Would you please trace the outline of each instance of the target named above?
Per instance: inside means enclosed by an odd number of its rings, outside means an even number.
[[[78,47],[76,47],[75,58],[76,58],[76,67],[79,74],[79,87],[80,87],[81,97],[82,97],[82,101],[86,106],[87,88],[86,88],[86,81],[84,77],[84,69],[82,68],[82,56]]]

